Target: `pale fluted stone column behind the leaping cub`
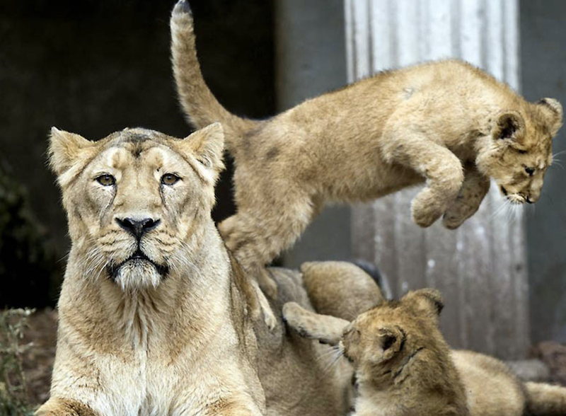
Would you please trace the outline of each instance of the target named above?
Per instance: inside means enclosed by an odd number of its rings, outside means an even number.
[[[349,81],[382,69],[458,57],[519,88],[517,0],[345,0]],[[420,187],[352,209],[352,252],[376,262],[393,293],[437,287],[441,326],[454,347],[505,359],[529,347],[524,218],[499,215],[495,186],[457,231],[420,229]]]

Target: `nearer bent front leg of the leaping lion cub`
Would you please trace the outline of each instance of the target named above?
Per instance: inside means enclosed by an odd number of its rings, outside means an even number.
[[[426,178],[426,187],[412,200],[411,214],[415,224],[431,226],[456,199],[462,187],[464,175],[460,159],[424,134],[389,132],[384,138],[386,160],[412,168]]]

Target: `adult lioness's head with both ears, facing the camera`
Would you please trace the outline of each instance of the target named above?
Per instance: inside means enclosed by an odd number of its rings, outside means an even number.
[[[54,129],[51,163],[85,275],[135,290],[189,268],[212,223],[223,140],[219,124],[186,139],[125,129],[97,142]]]

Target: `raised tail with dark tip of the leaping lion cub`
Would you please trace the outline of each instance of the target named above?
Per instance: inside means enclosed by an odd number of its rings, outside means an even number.
[[[233,152],[241,137],[260,121],[233,115],[216,100],[204,82],[197,59],[192,11],[186,0],[179,0],[171,13],[171,61],[179,100],[190,124],[202,129],[213,122],[221,122],[226,148]]]

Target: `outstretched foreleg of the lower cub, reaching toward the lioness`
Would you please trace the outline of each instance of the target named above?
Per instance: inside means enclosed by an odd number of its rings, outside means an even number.
[[[322,344],[337,345],[349,322],[330,315],[307,311],[295,302],[283,306],[283,320],[301,337],[318,340]]]

